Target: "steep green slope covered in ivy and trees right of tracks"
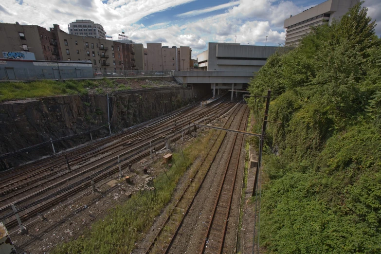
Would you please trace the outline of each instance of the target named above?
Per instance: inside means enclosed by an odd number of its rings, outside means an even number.
[[[279,48],[250,84],[272,90],[260,242],[267,253],[381,253],[381,40],[361,4]],[[259,133],[262,100],[250,99]],[[253,140],[253,142],[256,142]],[[277,155],[279,161],[275,157]]]

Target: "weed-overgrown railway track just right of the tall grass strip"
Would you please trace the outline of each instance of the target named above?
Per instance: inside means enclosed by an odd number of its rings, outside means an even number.
[[[241,104],[238,107],[236,107],[236,109],[234,109],[229,119],[226,121],[224,127],[229,128],[231,126],[237,112],[239,112],[243,107],[246,107],[246,105]],[[242,123],[243,119],[247,119],[247,116],[248,116],[248,108],[246,107],[244,113],[240,117],[240,120],[239,120],[240,123]],[[246,121],[244,121],[244,123],[246,124]],[[174,244],[176,240],[178,240],[176,236],[179,234],[179,229],[181,227],[182,221],[188,214],[195,200],[195,197],[197,196],[200,190],[200,187],[209,172],[210,167],[214,163],[216,156],[218,154],[218,151],[221,148],[222,142],[225,139],[225,136],[226,136],[226,132],[221,132],[221,131],[218,132],[218,137],[215,139],[207,156],[204,157],[204,159],[200,163],[200,166],[197,168],[195,174],[188,182],[186,188],[183,190],[181,197],[174,204],[164,224],[161,226],[155,238],[152,240],[149,247],[146,249],[145,254],[168,253],[171,245]],[[222,140],[220,140],[220,137],[222,137]],[[220,141],[220,143],[217,144],[217,141]],[[234,149],[232,149],[232,153],[233,153],[233,150]],[[239,155],[238,155],[238,158],[239,158]],[[207,169],[205,172],[200,172],[201,168],[207,168]],[[196,183],[200,182],[200,185],[198,185],[196,190],[194,188],[191,188],[195,182]],[[191,201],[189,202],[189,200]],[[171,228],[172,229],[174,228],[174,230],[171,231]],[[169,243],[167,242],[168,238],[171,239]]]

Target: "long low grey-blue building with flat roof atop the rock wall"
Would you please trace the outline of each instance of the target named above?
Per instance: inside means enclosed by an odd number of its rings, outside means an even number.
[[[57,62],[49,61],[11,59],[1,60],[0,80],[35,80],[93,77],[91,64],[58,62],[58,65]]]

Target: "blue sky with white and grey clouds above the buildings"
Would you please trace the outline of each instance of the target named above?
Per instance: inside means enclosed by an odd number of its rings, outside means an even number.
[[[101,23],[109,36],[125,32],[137,43],[190,46],[192,57],[208,42],[277,46],[283,22],[324,0],[0,0],[0,22],[61,29],[75,19]],[[381,20],[381,0],[365,0],[368,15]],[[381,35],[381,22],[376,33]],[[236,37],[235,37],[236,36]],[[145,44],[146,46],[146,44]]]

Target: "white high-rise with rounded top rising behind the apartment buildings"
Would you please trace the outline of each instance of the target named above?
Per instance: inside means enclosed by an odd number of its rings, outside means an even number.
[[[68,25],[70,35],[106,39],[106,32],[101,24],[95,24],[90,19],[76,19]]]

